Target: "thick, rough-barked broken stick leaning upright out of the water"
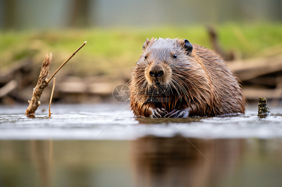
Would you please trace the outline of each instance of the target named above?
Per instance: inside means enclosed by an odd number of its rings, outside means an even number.
[[[45,58],[42,62],[39,78],[37,84],[33,90],[32,99],[29,102],[29,106],[26,110],[25,115],[33,116],[35,111],[37,110],[38,106],[40,105],[40,96],[43,92],[43,89],[48,85],[46,81],[46,77],[49,74],[49,67],[52,61],[52,52],[50,54],[46,54]]]

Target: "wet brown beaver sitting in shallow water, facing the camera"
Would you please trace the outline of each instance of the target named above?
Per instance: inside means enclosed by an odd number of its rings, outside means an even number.
[[[245,112],[238,78],[214,51],[187,39],[147,38],[129,80],[135,116],[219,116]]]

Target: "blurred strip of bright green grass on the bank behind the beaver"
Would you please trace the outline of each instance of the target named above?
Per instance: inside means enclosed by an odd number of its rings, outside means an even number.
[[[215,27],[221,46],[243,58],[263,56],[269,51],[282,52],[282,23],[225,24]],[[83,35],[82,35],[83,34]],[[71,59],[69,74],[88,76],[120,71],[130,73],[149,37],[187,38],[211,48],[205,26],[159,28],[92,28],[49,31],[0,32],[0,68],[21,58],[30,58],[40,66],[45,53],[53,53],[52,68],[57,68],[84,40],[88,43]],[[115,66],[116,68],[114,68]],[[52,69],[51,68],[51,69]]]

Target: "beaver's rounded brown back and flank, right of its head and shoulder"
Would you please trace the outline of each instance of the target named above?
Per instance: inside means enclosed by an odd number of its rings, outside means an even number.
[[[211,86],[210,115],[244,113],[245,97],[238,84],[238,78],[226,66],[224,60],[214,51],[193,44],[192,54],[205,70]]]

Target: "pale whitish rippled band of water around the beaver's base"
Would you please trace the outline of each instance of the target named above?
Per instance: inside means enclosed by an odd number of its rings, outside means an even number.
[[[257,106],[246,114],[226,117],[136,118],[128,104],[55,104],[40,106],[35,118],[24,116],[26,105],[1,106],[0,139],[122,139],[145,135],[198,138],[282,137],[282,107],[271,107],[265,118]],[[44,111],[42,111],[44,110]]]

